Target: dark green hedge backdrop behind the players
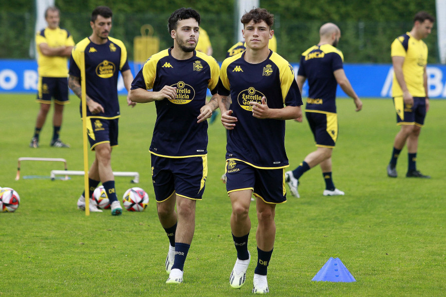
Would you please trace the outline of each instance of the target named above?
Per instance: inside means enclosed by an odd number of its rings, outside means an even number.
[[[77,43],[91,34],[90,14],[98,5],[113,10],[111,36],[124,42],[133,59],[133,40],[141,36],[143,24],[154,27],[160,50],[172,45],[167,18],[179,7],[192,7],[202,17],[214,49],[213,56],[223,61],[226,50],[235,42],[239,20],[235,19],[234,0],[56,0],[61,10],[62,28]],[[395,37],[410,31],[416,12],[436,15],[435,0],[261,0],[260,6],[275,15],[273,29],[278,52],[290,62],[319,41],[319,27],[334,22],[341,29],[338,48],[347,63],[390,63],[390,44]],[[29,0],[0,0],[0,58],[30,58],[30,41],[35,34],[35,4]],[[436,24],[424,41],[429,47],[429,63],[439,62]]]

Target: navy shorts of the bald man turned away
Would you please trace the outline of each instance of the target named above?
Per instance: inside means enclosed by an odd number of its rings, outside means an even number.
[[[305,112],[316,147],[335,148],[337,140],[337,114]]]

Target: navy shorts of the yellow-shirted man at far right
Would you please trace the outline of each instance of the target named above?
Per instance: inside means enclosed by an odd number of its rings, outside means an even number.
[[[426,118],[426,97],[414,97],[413,105],[404,104],[402,97],[393,97],[396,111],[396,125],[417,125],[423,127]]]

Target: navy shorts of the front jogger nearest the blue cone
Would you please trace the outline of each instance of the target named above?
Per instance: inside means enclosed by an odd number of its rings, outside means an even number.
[[[252,190],[255,197],[266,203],[286,202],[285,168],[260,169],[239,160],[227,160],[227,194],[243,190]]]

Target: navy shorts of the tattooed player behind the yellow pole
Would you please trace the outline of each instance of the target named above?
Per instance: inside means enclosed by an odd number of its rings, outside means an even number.
[[[95,150],[97,145],[103,143],[110,143],[110,147],[116,147],[118,145],[118,118],[87,117],[87,135],[91,150]]]

